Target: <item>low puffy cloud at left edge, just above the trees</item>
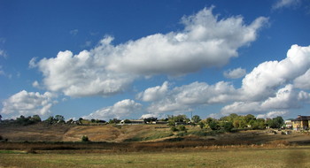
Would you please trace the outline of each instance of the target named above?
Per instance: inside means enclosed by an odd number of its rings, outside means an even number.
[[[3,102],[1,113],[18,117],[19,115],[47,115],[50,107],[55,103],[54,95],[45,92],[43,95],[38,92],[27,92],[25,90],[12,95]]]

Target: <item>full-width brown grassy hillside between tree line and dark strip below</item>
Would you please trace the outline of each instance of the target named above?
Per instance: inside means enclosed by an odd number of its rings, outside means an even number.
[[[243,143],[264,143],[268,141],[307,141],[309,134],[270,135],[267,131],[246,131],[235,134],[208,135],[199,127],[187,126],[187,133],[171,132],[165,125],[132,125],[132,126],[69,126],[43,124],[33,126],[1,126],[0,135],[9,141],[81,141],[87,135],[90,141],[165,141],[184,134],[184,141],[217,140],[225,142],[242,141]],[[168,141],[168,140],[166,140]]]

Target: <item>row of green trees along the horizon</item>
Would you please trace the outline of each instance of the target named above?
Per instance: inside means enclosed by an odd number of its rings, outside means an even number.
[[[225,131],[232,131],[233,129],[265,129],[267,126],[270,128],[281,128],[284,124],[282,117],[276,118],[255,118],[252,114],[248,115],[237,115],[236,113],[229,114],[229,116],[224,116],[219,119],[216,118],[205,118],[201,119],[198,115],[194,115],[192,118],[188,118],[186,115],[168,115],[167,118],[143,118],[144,123],[151,123],[153,121],[166,121],[167,125],[175,126],[176,124],[180,125],[192,125],[200,126],[200,128],[210,128],[212,130],[224,129]],[[66,121],[64,116],[56,115],[50,116],[49,118],[42,120],[39,115],[34,116],[20,116],[16,119],[7,119],[2,120],[1,123],[13,123],[20,126],[27,126],[36,123],[45,123],[49,125],[54,124],[75,124],[75,125],[92,125],[92,124],[119,124],[120,119],[112,118],[108,122],[100,119],[83,119],[79,118],[78,120],[69,119]],[[130,123],[129,119],[125,119],[125,123]]]

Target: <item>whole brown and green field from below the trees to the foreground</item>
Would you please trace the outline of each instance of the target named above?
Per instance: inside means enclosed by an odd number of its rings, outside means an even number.
[[[308,133],[187,126],[0,126],[0,167],[310,167]],[[90,142],[81,142],[81,136]]]

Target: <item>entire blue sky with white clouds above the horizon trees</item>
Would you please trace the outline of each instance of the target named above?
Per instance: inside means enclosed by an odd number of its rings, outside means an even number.
[[[295,118],[310,1],[0,1],[4,118]]]

